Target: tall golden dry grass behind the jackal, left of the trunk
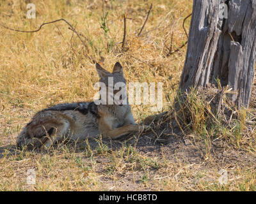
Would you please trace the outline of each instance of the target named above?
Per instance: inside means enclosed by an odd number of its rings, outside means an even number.
[[[17,33],[1,27],[1,130],[10,129],[6,120],[12,120],[12,126],[24,124],[45,106],[92,100],[98,76],[86,54],[95,61],[104,59],[102,64],[109,70],[120,61],[128,82],[164,82],[164,93],[172,98],[171,87],[179,82],[185,50],[170,57],[166,55],[172,33],[173,50],[186,41],[181,25],[191,12],[190,1],[154,1],[140,38],[137,34],[145,21],[149,1],[104,1],[104,14],[102,1],[34,3],[36,19],[28,19],[26,1],[3,1],[1,24],[28,31],[44,22],[65,18],[86,37],[88,50],[65,22],[44,25],[37,33]],[[106,13],[107,33],[101,28],[101,18]],[[128,18],[127,52],[120,52],[124,13]],[[187,29],[188,25],[189,22]],[[133,107],[137,119],[141,117],[140,109],[143,106]]]

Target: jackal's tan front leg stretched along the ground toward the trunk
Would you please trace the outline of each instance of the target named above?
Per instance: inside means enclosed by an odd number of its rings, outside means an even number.
[[[147,126],[138,126],[138,125],[133,125],[133,124],[129,124],[126,126],[122,126],[120,128],[116,128],[116,129],[109,129],[108,131],[105,131],[104,133],[102,133],[102,136],[108,137],[108,138],[118,138],[120,136],[123,135],[127,135],[129,133],[133,133],[133,132],[138,132],[138,131],[143,131],[144,128],[148,128]]]

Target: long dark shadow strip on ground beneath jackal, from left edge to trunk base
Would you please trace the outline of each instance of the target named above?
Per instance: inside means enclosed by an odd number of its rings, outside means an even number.
[[[8,154],[10,156],[19,155],[20,152],[29,151],[29,152],[40,152],[40,154],[48,154],[51,151],[58,151],[64,149],[70,150],[70,152],[84,152],[85,150],[92,150],[93,152],[99,152],[102,149],[108,150],[119,150],[124,146],[135,147],[138,150],[142,150],[143,152],[160,150],[163,145],[168,145],[170,143],[177,142],[177,137],[172,137],[172,129],[170,128],[170,124],[168,120],[166,120],[166,114],[159,113],[157,115],[150,115],[146,119],[141,121],[141,125],[150,125],[152,129],[142,133],[131,133],[129,135],[122,136],[116,140],[112,140],[109,138],[86,138],[83,142],[71,142],[65,141],[54,145],[49,150],[45,149],[33,149],[33,150],[20,150],[17,149],[16,145],[4,145],[0,147],[0,159],[4,156],[4,154]]]

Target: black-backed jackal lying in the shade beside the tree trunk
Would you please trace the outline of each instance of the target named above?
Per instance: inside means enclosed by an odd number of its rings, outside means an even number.
[[[116,62],[112,73],[98,63],[96,69],[100,77],[99,82],[106,85],[107,92],[110,88],[113,89],[108,87],[109,78],[113,79],[114,85],[118,82],[126,84],[124,70],[119,62]],[[124,89],[126,91],[126,86]],[[109,96],[108,93],[106,95]],[[97,105],[95,101],[65,103],[36,113],[18,136],[17,147],[48,149],[64,138],[81,141],[86,137],[97,137],[99,134],[103,138],[115,139],[128,133],[143,131],[144,128],[145,126],[134,122],[127,97],[119,98],[118,103],[113,105]]]

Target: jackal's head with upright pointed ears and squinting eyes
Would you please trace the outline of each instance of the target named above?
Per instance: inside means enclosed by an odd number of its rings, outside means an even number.
[[[100,80],[100,103],[102,105],[127,105],[126,81],[124,69],[119,62],[114,65],[112,73],[96,63]]]

